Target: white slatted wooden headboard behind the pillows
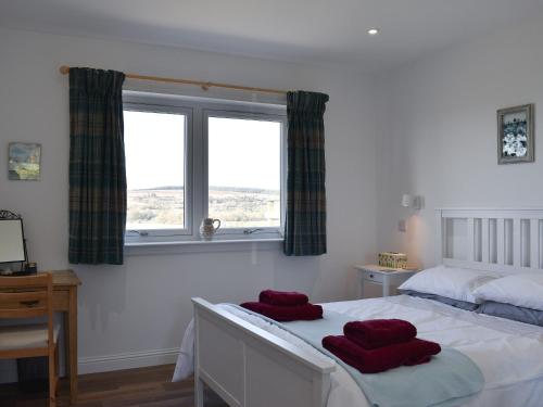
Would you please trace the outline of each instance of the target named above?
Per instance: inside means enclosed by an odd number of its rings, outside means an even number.
[[[437,260],[518,272],[543,268],[543,209],[438,208]]]

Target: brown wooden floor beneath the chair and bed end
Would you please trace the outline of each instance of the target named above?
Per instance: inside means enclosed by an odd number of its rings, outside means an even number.
[[[192,407],[194,406],[191,379],[172,383],[174,365],[117,370],[79,376],[80,407]],[[70,406],[68,386],[61,381],[58,406]],[[46,393],[21,393],[16,384],[0,384],[2,407],[46,407]],[[205,394],[205,407],[227,407],[211,391]]]

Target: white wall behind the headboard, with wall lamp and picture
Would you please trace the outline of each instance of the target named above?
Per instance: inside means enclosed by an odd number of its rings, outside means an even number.
[[[542,206],[540,18],[444,50],[380,78],[378,249],[434,262],[440,206]],[[496,110],[535,103],[535,163],[497,165]],[[419,215],[400,206],[420,194]],[[407,218],[407,232],[397,221]]]

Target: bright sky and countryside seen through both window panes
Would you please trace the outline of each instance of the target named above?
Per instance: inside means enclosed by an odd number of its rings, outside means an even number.
[[[186,116],[125,111],[124,119],[126,229],[182,229]],[[223,228],[278,227],[280,123],[210,117],[207,128],[209,216]]]

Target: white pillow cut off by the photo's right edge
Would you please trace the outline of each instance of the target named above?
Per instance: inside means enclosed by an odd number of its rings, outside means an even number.
[[[543,271],[493,280],[475,290],[473,295],[481,302],[494,301],[543,310]]]

